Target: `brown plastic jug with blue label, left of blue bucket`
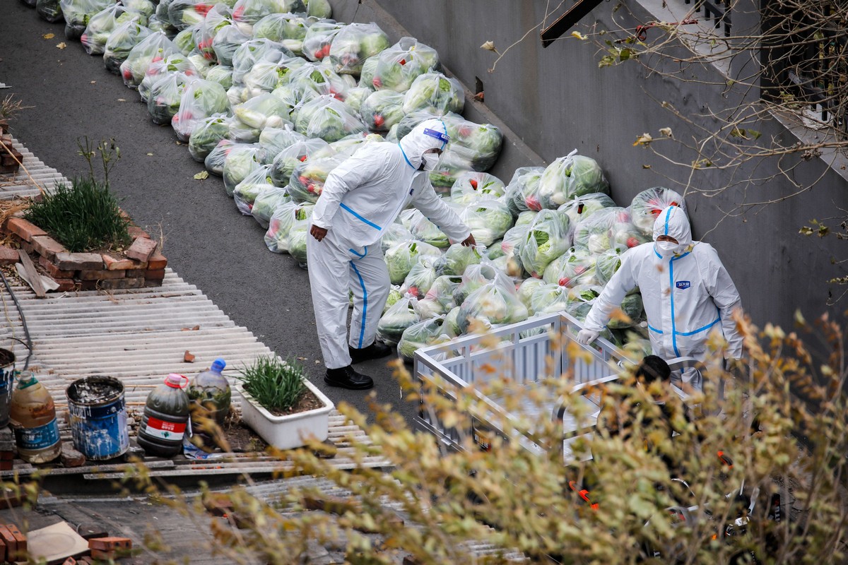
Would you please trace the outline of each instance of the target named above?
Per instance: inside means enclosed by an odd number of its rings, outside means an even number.
[[[23,371],[12,391],[9,419],[20,458],[28,463],[47,463],[59,457],[62,440],[53,396],[35,375]]]

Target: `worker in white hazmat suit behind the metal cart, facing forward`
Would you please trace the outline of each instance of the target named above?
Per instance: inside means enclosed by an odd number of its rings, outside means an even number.
[[[713,331],[721,332],[727,341],[724,357],[742,355],[742,336],[732,317],[741,308],[739,292],[716,250],[703,241],[692,241],[683,209],[665,208],[654,222],[654,242],[622,255],[621,267],[595,299],[577,341],[584,345],[594,341],[612,311],[637,286],[655,355],[703,361],[710,353],[706,342]],[[700,383],[692,385],[700,388]]]

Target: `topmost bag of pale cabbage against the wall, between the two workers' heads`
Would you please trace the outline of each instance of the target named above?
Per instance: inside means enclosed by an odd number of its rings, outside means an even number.
[[[598,163],[593,158],[577,155],[577,149],[550,163],[538,184],[538,198],[542,208],[555,209],[573,197],[610,192],[610,185]]]

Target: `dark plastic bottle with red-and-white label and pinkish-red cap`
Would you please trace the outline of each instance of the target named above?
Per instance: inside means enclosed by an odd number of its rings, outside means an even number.
[[[182,451],[186,433],[189,400],[185,389],[188,377],[171,373],[165,382],[148,394],[137,441],[148,455],[174,457]]]

